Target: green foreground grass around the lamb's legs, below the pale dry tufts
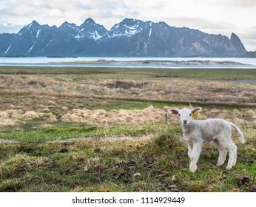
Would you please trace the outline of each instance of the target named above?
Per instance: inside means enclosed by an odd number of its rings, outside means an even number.
[[[141,136],[149,140],[46,142],[78,136]],[[248,191],[255,184],[255,130],[238,144],[238,163],[230,171],[215,166],[218,150],[203,147],[198,171],[189,172],[181,127],[76,126],[34,132],[1,133],[19,143],[1,143],[0,191]],[[33,138],[33,141],[31,140]],[[133,175],[140,173],[138,177]],[[173,176],[177,181],[172,181]],[[239,176],[250,183],[240,183]]]

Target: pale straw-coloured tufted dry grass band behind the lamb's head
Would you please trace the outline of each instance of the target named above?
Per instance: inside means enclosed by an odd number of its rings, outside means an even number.
[[[50,109],[53,101],[48,101],[48,104],[50,105],[44,105],[44,108],[38,107],[35,111],[21,109],[2,110],[0,111],[0,126],[26,123],[27,121],[38,119],[51,123],[61,121],[63,123],[84,123],[101,126],[164,123],[166,109],[170,108],[170,106],[162,108],[149,106],[145,109],[112,109],[107,111],[87,108],[69,110],[68,107],[58,106],[62,109],[58,111],[58,115],[56,114],[56,106]],[[198,119],[206,118],[224,118],[243,126],[256,123],[256,112],[253,109],[225,110],[206,108],[203,109]],[[178,118],[174,115],[169,115],[169,123],[178,124]]]

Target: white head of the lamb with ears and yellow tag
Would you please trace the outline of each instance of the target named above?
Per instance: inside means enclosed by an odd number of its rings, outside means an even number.
[[[183,108],[180,110],[169,109],[168,112],[171,114],[179,115],[181,124],[189,125],[191,123],[193,116],[195,116],[198,112],[201,112],[202,108],[197,107],[194,109]]]

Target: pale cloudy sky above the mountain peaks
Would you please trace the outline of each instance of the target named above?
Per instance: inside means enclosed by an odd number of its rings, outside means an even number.
[[[0,33],[18,33],[24,25],[82,24],[86,18],[108,30],[124,18],[165,21],[230,37],[256,50],[256,0],[0,0]]]

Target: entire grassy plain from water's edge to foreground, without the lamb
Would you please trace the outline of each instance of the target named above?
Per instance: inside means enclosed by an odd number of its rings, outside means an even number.
[[[98,81],[101,93],[93,91],[91,83],[87,94],[87,75]],[[127,85],[120,78],[124,76]],[[113,77],[123,81],[115,82],[115,94]],[[253,96],[239,104],[235,96],[230,103],[210,104],[200,98],[161,100],[149,90],[143,97],[143,77],[146,89],[155,86],[158,94],[160,83],[169,78],[194,85],[221,79],[223,91],[232,96],[233,85],[225,84],[238,78],[256,80],[256,71],[0,67],[0,191],[255,191]],[[131,82],[138,95],[121,96]],[[240,86],[243,95],[255,91],[253,82]],[[167,124],[165,118],[166,109],[185,106],[203,107],[197,119],[225,118],[240,126],[246,143],[232,134],[238,145],[238,163],[232,170],[215,166],[218,150],[206,143],[198,171],[189,172],[178,118],[169,115]]]

